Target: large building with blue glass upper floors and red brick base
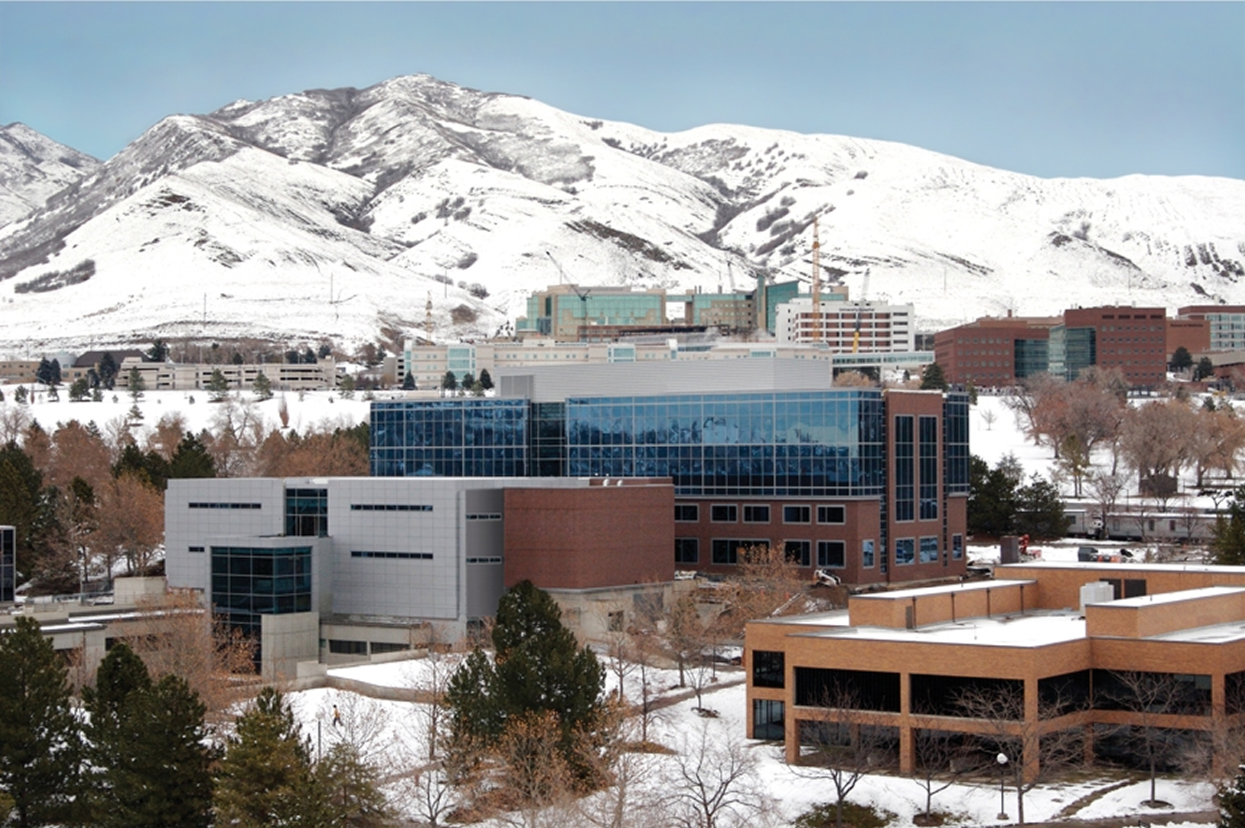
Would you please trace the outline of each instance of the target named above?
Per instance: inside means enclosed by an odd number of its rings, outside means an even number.
[[[964,572],[962,394],[798,359],[499,373],[494,398],[374,403],[372,475],[670,479],[680,567],[778,546],[853,583]]]

